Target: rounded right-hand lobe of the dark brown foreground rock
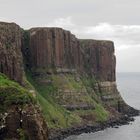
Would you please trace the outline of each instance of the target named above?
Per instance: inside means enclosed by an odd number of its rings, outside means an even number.
[[[22,112],[23,129],[29,140],[47,140],[48,129],[39,108],[28,106]]]

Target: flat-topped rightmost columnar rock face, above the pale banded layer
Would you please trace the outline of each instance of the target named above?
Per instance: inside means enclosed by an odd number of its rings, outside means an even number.
[[[79,40],[84,68],[100,81],[115,81],[116,60],[111,41]]]

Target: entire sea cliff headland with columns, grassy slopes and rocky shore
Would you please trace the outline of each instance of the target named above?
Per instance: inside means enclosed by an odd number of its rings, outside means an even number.
[[[0,139],[60,140],[125,124],[112,41],[0,22]]]

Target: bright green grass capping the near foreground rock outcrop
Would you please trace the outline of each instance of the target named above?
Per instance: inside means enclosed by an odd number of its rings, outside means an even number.
[[[11,105],[24,105],[33,102],[31,93],[18,83],[0,73],[0,111],[5,111]]]

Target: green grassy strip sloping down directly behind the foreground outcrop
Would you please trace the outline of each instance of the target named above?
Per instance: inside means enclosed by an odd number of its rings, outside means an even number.
[[[37,100],[49,128],[67,128],[80,123],[81,119],[79,116],[58,105],[51,96],[57,91],[56,85],[40,85],[31,77],[29,72],[27,73],[27,79],[37,91]]]

